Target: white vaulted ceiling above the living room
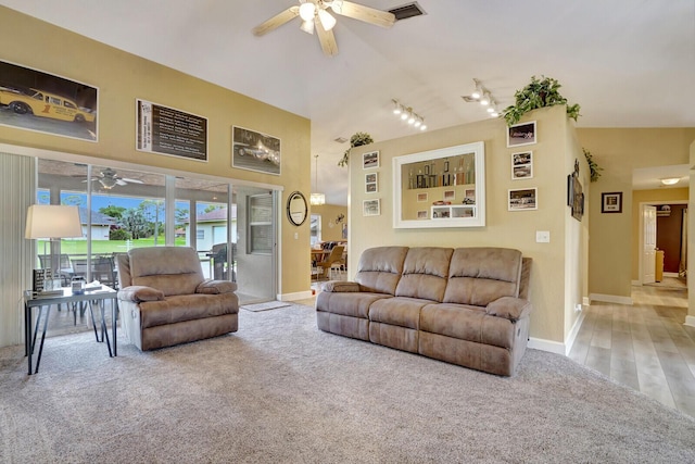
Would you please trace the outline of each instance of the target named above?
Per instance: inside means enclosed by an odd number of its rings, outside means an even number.
[[[380,10],[406,2],[355,1]],[[336,138],[412,134],[391,114],[394,98],[429,130],[482,120],[480,105],[460,98],[473,77],[501,109],[532,75],[557,78],[569,102],[581,104],[578,127],[695,127],[693,0],[418,3],[426,15],[390,29],[339,16],[339,54],[327,58],[299,18],[264,37],[251,34],[296,0],[0,0],[311,118],[306,155],[312,171],[319,155],[318,187],[333,204],[348,201],[348,176],[337,163],[349,145]]]

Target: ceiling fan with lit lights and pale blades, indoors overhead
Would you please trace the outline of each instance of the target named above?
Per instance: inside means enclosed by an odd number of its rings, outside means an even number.
[[[328,12],[328,9],[341,16],[352,17],[353,20],[363,21],[376,26],[391,27],[393,23],[395,23],[395,15],[393,13],[376,10],[351,1],[299,0],[299,5],[290,7],[265,23],[254,27],[253,34],[263,36],[300,16],[302,18],[300,28],[308,34],[314,34],[314,29],[316,29],[321,50],[324,50],[324,53],[328,57],[333,57],[338,54],[338,45],[336,43],[336,36],[332,30],[336,25],[336,18]]]

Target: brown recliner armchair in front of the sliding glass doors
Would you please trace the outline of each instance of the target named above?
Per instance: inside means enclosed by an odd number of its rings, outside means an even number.
[[[205,279],[192,248],[137,248],[117,260],[122,328],[140,350],[237,331],[237,284]]]

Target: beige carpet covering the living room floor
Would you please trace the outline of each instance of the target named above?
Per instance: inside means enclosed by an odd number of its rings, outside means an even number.
[[[492,376],[316,328],[308,306],[237,334],[110,359],[0,349],[0,462],[692,463],[695,421],[565,356]]]

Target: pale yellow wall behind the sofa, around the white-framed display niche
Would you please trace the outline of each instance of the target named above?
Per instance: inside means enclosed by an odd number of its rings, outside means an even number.
[[[507,148],[503,120],[432,130],[353,149],[353,160],[367,151],[380,151],[379,192],[366,195],[361,163],[350,163],[350,249],[349,269],[354,274],[362,252],[383,244],[467,247],[491,246],[521,250],[533,259],[531,276],[531,337],[561,346],[573,324],[572,308],[581,303],[583,288],[580,275],[585,258],[573,258],[566,266],[568,249],[582,253],[583,229],[569,217],[566,205],[567,175],[573,170],[580,147],[570,137],[573,123],[568,122],[561,106],[536,110],[525,121],[536,121],[535,145]],[[483,141],[485,147],[486,226],[473,228],[394,229],[393,173],[394,156],[417,153],[462,143]],[[511,180],[510,155],[533,151],[533,178]],[[580,159],[581,161],[581,159]],[[581,167],[582,185],[587,184],[585,161]],[[538,187],[536,211],[507,211],[508,189]],[[587,191],[587,190],[586,190]],[[381,215],[363,216],[365,199],[381,199]],[[569,217],[569,218],[568,218]],[[551,233],[549,243],[536,243],[536,230]],[[567,234],[571,234],[567,237]],[[579,244],[577,244],[579,243]],[[566,279],[566,274],[569,273]],[[569,287],[566,284],[569,283]],[[567,297],[569,292],[569,297]],[[579,299],[579,301],[577,301]],[[571,300],[571,301],[570,301]],[[567,308],[567,306],[570,308]]]

